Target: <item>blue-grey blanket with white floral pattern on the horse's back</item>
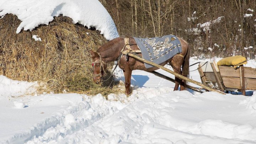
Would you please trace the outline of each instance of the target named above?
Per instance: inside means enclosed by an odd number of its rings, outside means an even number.
[[[182,52],[180,40],[172,34],[154,38],[133,38],[142,52],[142,57],[156,64],[163,63]],[[148,69],[153,66],[145,63],[145,67]]]

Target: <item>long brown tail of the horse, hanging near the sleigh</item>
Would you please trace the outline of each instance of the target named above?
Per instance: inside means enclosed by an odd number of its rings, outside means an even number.
[[[187,44],[187,54],[184,57],[182,64],[182,75],[189,78],[189,59],[190,59],[190,46]],[[188,81],[185,80],[185,87],[187,88]]]

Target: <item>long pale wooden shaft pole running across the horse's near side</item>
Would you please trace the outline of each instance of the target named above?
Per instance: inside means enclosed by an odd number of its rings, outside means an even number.
[[[202,84],[202,83],[200,83],[200,82],[198,82],[198,81],[191,80],[191,79],[189,79],[189,78],[187,78],[187,77],[185,77],[185,76],[183,76],[183,75],[177,74],[177,73],[175,73],[174,71],[165,68],[164,66],[155,64],[155,63],[150,62],[150,61],[148,61],[148,60],[145,60],[145,59],[143,59],[143,58],[141,58],[141,57],[138,57],[138,56],[135,55],[135,54],[132,54],[132,53],[129,53],[129,52],[128,52],[128,53],[127,53],[127,52],[122,52],[122,53],[123,53],[124,55],[127,55],[127,54],[128,54],[130,57],[133,57],[133,58],[135,58],[135,59],[138,59],[138,60],[140,60],[140,61],[142,61],[142,62],[144,62],[144,63],[147,63],[147,64],[150,64],[150,65],[156,66],[156,67],[158,67],[158,68],[160,68],[160,69],[162,69],[162,70],[165,70],[165,71],[167,71],[167,72],[169,72],[169,73],[175,75],[176,77],[178,77],[178,78],[180,78],[180,79],[184,79],[184,80],[186,80],[186,81],[192,82],[193,84],[199,85],[199,86],[203,87],[203,88],[206,89],[206,90],[215,91],[215,92],[218,92],[218,93],[220,93],[220,94],[225,95],[224,92],[215,90],[215,89],[213,89],[212,87],[206,86],[206,85],[204,85],[204,84]]]

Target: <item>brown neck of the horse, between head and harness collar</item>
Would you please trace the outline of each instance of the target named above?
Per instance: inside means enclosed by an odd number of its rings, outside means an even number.
[[[117,60],[123,47],[124,38],[119,37],[101,46],[97,52],[100,54],[102,60],[108,63]]]

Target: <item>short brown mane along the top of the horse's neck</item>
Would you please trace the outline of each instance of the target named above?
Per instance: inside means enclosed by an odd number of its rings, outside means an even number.
[[[116,49],[117,46],[119,46],[119,44],[122,44],[123,39],[123,37],[114,38],[111,41],[108,41],[107,43],[103,44],[100,48],[97,49],[96,52],[101,53],[105,50]]]

